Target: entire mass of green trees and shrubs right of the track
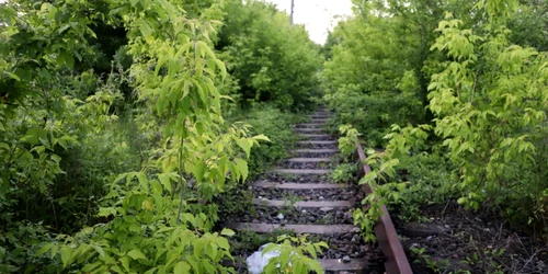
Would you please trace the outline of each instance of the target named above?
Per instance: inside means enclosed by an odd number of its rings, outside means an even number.
[[[420,218],[421,205],[458,199],[547,236],[547,39],[533,31],[547,26],[546,3],[354,3],[322,85],[338,121],[385,148],[369,151],[367,202]],[[355,217],[373,231],[379,214]]]

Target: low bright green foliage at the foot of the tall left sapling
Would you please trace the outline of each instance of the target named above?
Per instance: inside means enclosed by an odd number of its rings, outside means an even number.
[[[106,196],[113,206],[99,214],[114,215],[113,220],[61,238],[60,244],[47,243],[38,254],[50,253],[60,259],[62,269],[84,272],[230,272],[220,265],[224,258],[230,258],[227,239],[204,229],[210,227],[205,214],[178,216],[180,201],[169,198],[175,191],[169,178],[160,174],[148,180],[139,172],[123,175],[125,183],[113,185]]]

